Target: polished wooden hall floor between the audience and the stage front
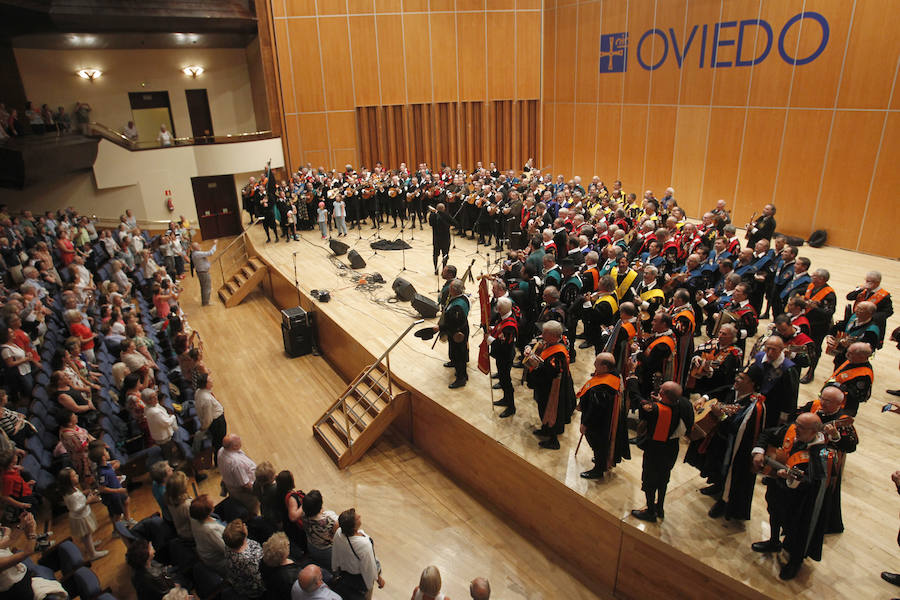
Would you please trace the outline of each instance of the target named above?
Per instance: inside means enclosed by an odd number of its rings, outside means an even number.
[[[231,309],[215,300],[200,307],[196,280],[187,278],[181,304],[202,335],[213,392],[225,407],[229,431],[242,436],[247,454],[270,461],[276,470],[291,470],[303,490],[321,490],[325,508],[340,513],[355,507],[362,515],[384,570],[386,586],[376,598],[408,598],[429,564],[440,568],[443,589],[452,598],[468,597],[468,583],[476,576],[488,577],[499,598],[606,597],[587,589],[401,437],[383,437],[361,462],[338,471],[313,440],[311,424],[345,383],[321,358],[286,357],[281,315],[261,291]],[[217,500],[218,481],[213,471],[200,484],[201,492]],[[149,484],[133,493],[132,502],[136,518],[158,510]],[[95,505],[94,514],[97,538],[108,540],[103,547],[112,553],[93,569],[117,598],[131,600],[124,546],[109,540],[103,507]],[[56,539],[64,539],[65,518],[53,529]]]

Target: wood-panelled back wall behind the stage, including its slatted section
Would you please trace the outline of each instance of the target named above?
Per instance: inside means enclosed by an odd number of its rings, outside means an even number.
[[[501,116],[515,119],[519,101],[540,98],[541,0],[265,2],[291,168],[358,166],[376,151],[391,153],[375,159],[386,164],[447,159],[470,168],[537,152],[533,116],[520,141],[493,142],[489,120],[497,101],[507,103]]]

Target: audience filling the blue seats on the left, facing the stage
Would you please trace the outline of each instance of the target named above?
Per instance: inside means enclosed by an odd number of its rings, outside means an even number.
[[[202,274],[215,250],[192,245],[182,221],[151,238],[131,211],[100,229],[71,208],[35,217],[0,206],[0,593],[64,593],[56,579],[71,573],[45,566],[59,551],[48,531],[59,510],[83,561],[107,556],[94,538],[102,504],[140,600],[189,590],[369,598],[384,579],[360,514],[337,514],[319,490],[297,489],[290,471],[257,465],[228,432],[178,301],[187,267]],[[218,503],[192,485],[206,479],[206,457],[221,476]],[[145,470],[159,508],[150,516],[130,501]],[[470,593],[489,598],[490,585],[476,578]],[[436,567],[413,597],[447,598]]]

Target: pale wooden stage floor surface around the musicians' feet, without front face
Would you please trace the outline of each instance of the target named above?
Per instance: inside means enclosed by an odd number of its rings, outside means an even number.
[[[290,281],[296,272],[301,290],[309,295],[312,289],[325,289],[331,294],[328,303],[316,303],[320,310],[340,323],[368,351],[379,355],[384,348],[415,318],[408,303],[392,303],[391,282],[401,275],[413,283],[416,289],[436,298],[439,285],[433,275],[431,262],[431,232],[428,228],[405,232],[412,249],[405,253],[408,270],[401,272],[403,254],[398,251],[378,251],[369,247],[374,230],[364,226],[360,237],[353,231],[346,242],[366,260],[361,271],[340,269],[330,259],[327,241],[317,231],[305,232],[301,241],[265,243],[265,235],[259,226],[250,231],[256,250],[272,265],[282,271]],[[388,239],[400,236],[399,229],[382,229]],[[344,238],[341,238],[344,240]],[[484,247],[475,253],[472,241],[457,239],[451,250],[450,262],[462,273],[475,259],[473,274],[486,272],[495,258],[485,254]],[[814,249],[804,247],[801,256],[812,260],[812,268],[825,267],[831,272],[831,285],[842,298],[861,283],[865,272],[877,269],[884,276],[884,286],[889,291],[900,292],[900,265],[896,261],[873,257],[836,248]],[[347,264],[346,256],[340,262]],[[380,273],[384,286],[374,292],[355,289],[355,273]],[[467,284],[467,292],[477,296],[477,286]],[[842,314],[844,301],[839,301],[838,313]],[[477,298],[473,299],[470,320],[473,332],[479,322]],[[900,317],[888,322],[888,331],[900,325]],[[761,324],[761,329],[764,325]],[[897,495],[890,474],[900,468],[897,462],[897,426],[900,415],[883,414],[881,407],[890,396],[886,389],[900,388],[898,352],[888,342],[873,359],[876,381],[873,398],[862,405],[857,419],[860,446],[847,460],[843,509],[846,531],[827,536],[823,560],[820,563],[806,561],[797,578],[791,582],[778,579],[779,564],[772,555],[760,555],[750,549],[751,542],[768,537],[768,515],[764,487],[757,485],[753,502],[752,519],[746,523],[713,520],[706,513],[712,501],[699,494],[704,481],[697,471],[679,462],[672,473],[666,502],[666,519],[657,524],[647,524],[630,516],[632,508],[643,506],[640,491],[640,450],[632,447],[632,459],[618,466],[611,476],[599,482],[581,479],[579,473],[591,466],[590,451],[585,446],[574,456],[578,440],[576,424],[570,425],[561,437],[558,451],[542,450],[531,430],[538,424],[536,406],[531,391],[516,385],[518,412],[509,419],[499,419],[499,409],[491,402],[488,377],[475,365],[480,333],[470,341],[472,361],[469,363],[469,383],[458,390],[447,389],[451,372],[442,363],[446,360],[446,345],[438,342],[432,349],[431,342],[407,336],[392,352],[391,365],[403,381],[433,399],[447,410],[461,417],[487,436],[538,467],[570,489],[595,503],[604,511],[621,519],[623,524],[635,527],[657,537],[697,558],[706,565],[727,574],[738,581],[771,597],[799,596],[803,598],[888,597],[896,595],[896,588],[879,578],[882,570],[900,569],[900,553],[896,546]],[[573,364],[576,389],[588,378],[593,353],[579,351]],[[831,360],[823,358],[814,383],[801,386],[800,403],[814,398],[824,379],[831,373]],[[276,368],[278,368],[276,366]],[[514,370],[518,379],[521,371]],[[495,392],[498,393],[498,392]],[[311,426],[312,421],[308,424]],[[306,429],[308,431],[308,429]],[[323,453],[324,454],[324,453]],[[682,449],[680,458],[683,457]],[[349,470],[363,470],[365,460]],[[527,500],[527,499],[523,499]],[[577,515],[571,515],[577,519]],[[653,569],[653,565],[647,565]],[[674,576],[674,574],[673,574]]]

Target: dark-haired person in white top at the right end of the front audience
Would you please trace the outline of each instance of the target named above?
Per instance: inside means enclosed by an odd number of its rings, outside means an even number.
[[[343,584],[348,591],[364,594],[368,600],[372,597],[375,584],[384,587],[381,565],[375,558],[375,544],[360,528],[362,518],[356,509],[342,512],[338,523],[340,528],[334,534],[331,552],[332,570],[343,573]],[[344,595],[341,590],[338,593]]]

